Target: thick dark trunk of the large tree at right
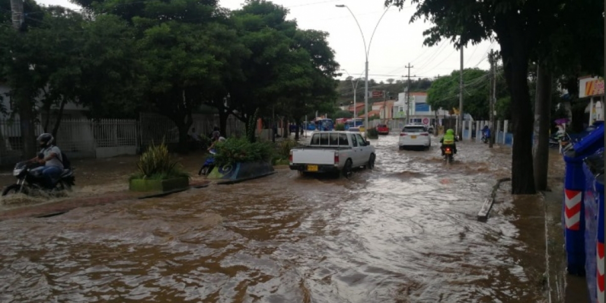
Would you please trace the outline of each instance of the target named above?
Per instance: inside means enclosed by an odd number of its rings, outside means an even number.
[[[513,39],[514,40],[514,39]],[[511,193],[531,195],[534,188],[532,132],[533,116],[528,92],[528,53],[525,46],[514,40],[503,47],[505,77],[511,95],[513,124],[513,156],[511,161]]]

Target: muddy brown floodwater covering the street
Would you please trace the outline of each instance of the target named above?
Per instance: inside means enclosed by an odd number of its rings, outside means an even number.
[[[504,188],[476,221],[510,148],[464,142],[446,167],[435,138],[397,141],[374,140],[375,170],[350,180],[285,169],[0,222],[0,301],[542,302],[539,199]],[[110,166],[99,178],[126,174]]]

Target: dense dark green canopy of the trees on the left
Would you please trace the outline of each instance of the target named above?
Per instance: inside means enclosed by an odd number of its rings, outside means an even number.
[[[230,11],[216,0],[74,2],[84,11],[26,1],[35,18],[21,32],[0,28],[11,96],[58,117],[54,125],[43,121],[55,133],[67,103],[90,108],[92,118],[159,113],[175,122],[182,144],[204,106],[218,110],[223,130],[228,115],[248,126],[256,112],[299,120],[334,110],[339,64],[328,34],[302,30],[281,5],[253,0]],[[8,0],[0,6],[10,12]],[[0,18],[10,25],[10,13]]]

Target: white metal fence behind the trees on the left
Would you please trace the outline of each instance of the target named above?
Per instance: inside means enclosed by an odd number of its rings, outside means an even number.
[[[50,127],[53,123],[50,123]],[[206,135],[218,125],[217,115],[194,115],[191,127],[196,129],[198,135]],[[245,132],[244,123],[233,116],[228,118],[226,126],[227,136]],[[35,127],[36,136],[44,132],[41,125],[36,124]],[[141,113],[139,120],[62,119],[56,138],[57,145],[70,158],[135,155],[142,145],[162,139],[167,143],[178,142],[178,129],[170,119],[153,113]],[[0,164],[18,161],[22,147],[19,120],[0,119]]]

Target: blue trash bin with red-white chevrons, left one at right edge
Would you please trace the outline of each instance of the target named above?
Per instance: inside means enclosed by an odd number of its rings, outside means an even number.
[[[583,160],[604,147],[604,124],[582,138],[564,153],[564,238],[567,270],[571,275],[585,275],[585,172]]]

